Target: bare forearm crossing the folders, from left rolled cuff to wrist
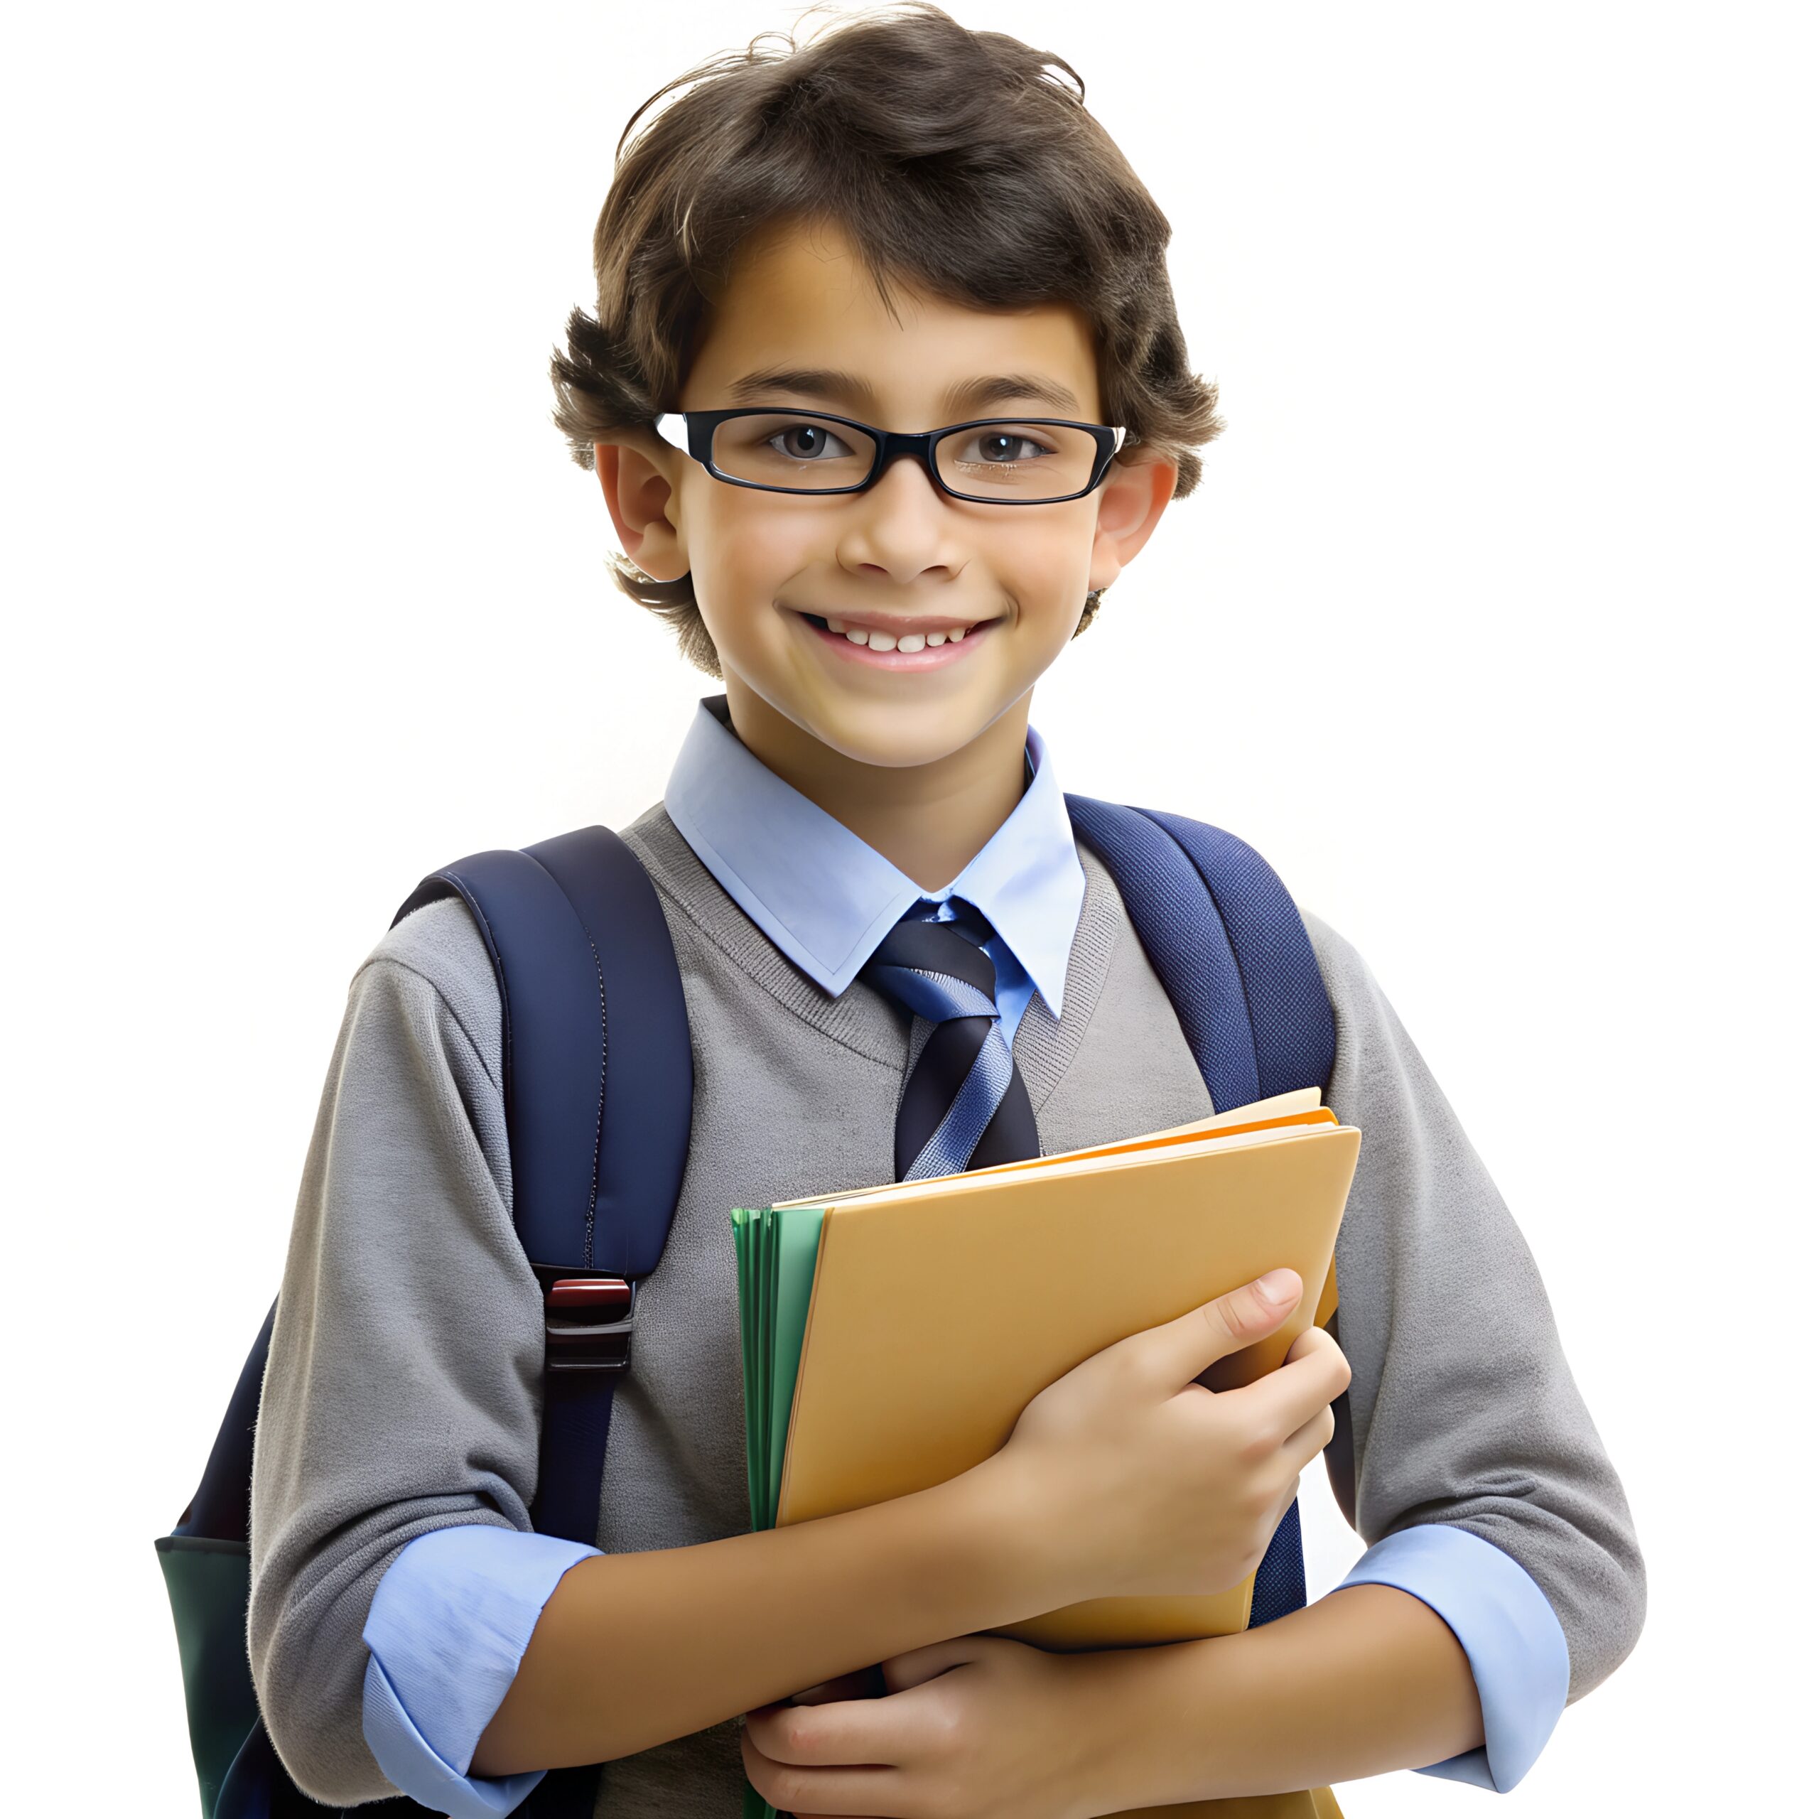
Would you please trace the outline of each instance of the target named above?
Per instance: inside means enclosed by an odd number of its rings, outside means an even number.
[[[946,1484],[569,1568],[471,1774],[600,1763],[1068,1601],[993,1461]]]

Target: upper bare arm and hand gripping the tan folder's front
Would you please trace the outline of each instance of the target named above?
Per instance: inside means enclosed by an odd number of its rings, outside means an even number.
[[[1299,1277],[1282,1277],[1095,1353],[1030,1402],[999,1453],[946,1484],[582,1561],[544,1606],[473,1772],[626,1755],[1075,1599],[1242,1579],[1332,1435],[1328,1404],[1346,1382],[1321,1332],[1297,1341],[1297,1364],[1244,1390],[1193,1382],[1281,1324],[1301,1297]]]

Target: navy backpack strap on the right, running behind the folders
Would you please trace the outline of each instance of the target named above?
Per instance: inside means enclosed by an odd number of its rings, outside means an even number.
[[[1301,911],[1264,859],[1179,815],[1075,795],[1068,815],[1111,873],[1213,1104],[1324,1090],[1337,1048],[1333,1006]],[[1306,1603],[1293,1502],[1257,1566],[1250,1626]]]

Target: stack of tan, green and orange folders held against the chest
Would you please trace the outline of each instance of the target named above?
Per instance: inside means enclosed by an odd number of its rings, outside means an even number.
[[[1319,1091],[1030,1162],[733,1211],[753,1528],[940,1484],[1024,1406],[1119,1339],[1286,1264],[1301,1304],[1201,1381],[1275,1370],[1337,1306],[1333,1242],[1359,1133]],[[1215,1597],[1104,1597],[999,1635],[1051,1650],[1231,1635],[1251,1581]],[[748,1788],[748,1815],[771,1808]],[[1313,1794],[1155,1808],[1170,1819],[1335,1815]]]

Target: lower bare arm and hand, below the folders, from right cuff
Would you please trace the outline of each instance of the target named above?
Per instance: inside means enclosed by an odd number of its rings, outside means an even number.
[[[746,1719],[746,1774],[779,1812],[1097,1819],[1322,1786],[1482,1739],[1452,1630],[1350,1586],[1261,1630],[1053,1655],[959,1635]]]

